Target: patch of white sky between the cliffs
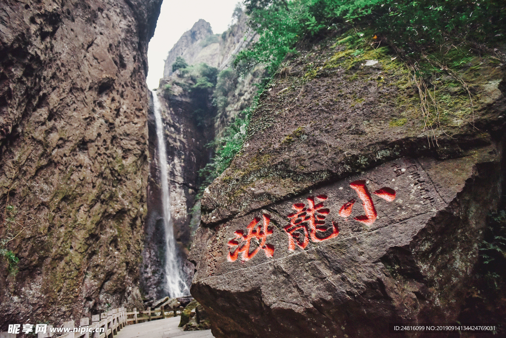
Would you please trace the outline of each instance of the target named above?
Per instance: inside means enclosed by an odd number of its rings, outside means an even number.
[[[149,41],[148,88],[158,88],[158,81],[163,77],[163,60],[184,32],[204,19],[215,34],[223,33],[232,21],[238,2],[241,0],[164,0],[155,34]]]

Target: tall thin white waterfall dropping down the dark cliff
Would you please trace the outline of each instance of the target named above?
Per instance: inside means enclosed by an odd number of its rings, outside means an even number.
[[[165,139],[163,137],[163,122],[160,113],[160,101],[155,91],[153,95],[153,110],[155,115],[156,136],[158,139],[158,163],[160,169],[160,180],[162,188],[163,224],[165,228],[165,285],[164,289],[169,297],[176,298],[188,295],[190,292],[185,280],[182,278],[182,271],[179,268],[178,256],[176,253],[176,241],[171,220],[171,195],[168,190],[168,167]]]

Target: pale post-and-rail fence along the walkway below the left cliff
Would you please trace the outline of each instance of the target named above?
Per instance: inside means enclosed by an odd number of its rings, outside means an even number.
[[[175,310],[174,310],[175,312]],[[176,313],[174,313],[176,315]],[[151,321],[156,319],[165,318],[165,311],[163,306],[157,309],[151,310],[148,308],[146,311],[137,311],[136,308],[132,312],[126,312],[125,308],[114,309],[109,312],[103,312],[100,315],[93,315],[91,318],[92,323],[90,324],[90,318],[85,317],[79,320],[79,326],[75,326],[73,320],[64,322],[64,328],[69,328],[68,333],[62,332],[51,332],[53,325],[48,325],[46,333],[38,333],[37,338],[57,337],[58,338],[112,338],[118,333],[124,326],[130,324],[137,324],[145,321]],[[23,325],[21,325],[23,327]],[[80,328],[87,328],[86,332]],[[73,332],[76,328],[77,332]],[[16,334],[0,332],[0,338],[15,338]]]

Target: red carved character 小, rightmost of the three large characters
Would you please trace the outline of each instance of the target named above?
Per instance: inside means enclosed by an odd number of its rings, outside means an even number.
[[[362,207],[364,208],[365,215],[353,218],[355,221],[362,222],[366,225],[372,225],[377,218],[376,208],[372,202],[371,194],[365,185],[365,181],[354,181],[350,183],[350,187],[357,192],[358,197],[362,200]],[[374,195],[379,196],[389,202],[395,199],[395,190],[391,188],[381,188],[373,192]],[[339,216],[349,217],[355,199],[346,202],[339,210]]]

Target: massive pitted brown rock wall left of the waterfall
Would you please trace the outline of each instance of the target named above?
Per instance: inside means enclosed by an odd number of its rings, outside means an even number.
[[[0,233],[19,263],[0,264],[0,331],[142,306],[146,51],[160,5],[3,4]]]

